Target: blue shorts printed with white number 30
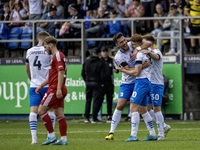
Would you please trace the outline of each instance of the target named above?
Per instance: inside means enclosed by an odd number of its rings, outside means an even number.
[[[148,103],[152,103],[153,106],[161,106],[163,93],[164,85],[151,84],[150,98]]]

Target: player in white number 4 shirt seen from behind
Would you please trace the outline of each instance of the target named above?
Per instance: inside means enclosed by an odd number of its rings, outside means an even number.
[[[32,143],[37,144],[37,114],[38,107],[48,90],[48,85],[42,88],[40,94],[35,93],[35,89],[47,78],[49,73],[49,64],[52,56],[48,55],[42,45],[44,39],[50,36],[46,31],[41,31],[38,34],[38,44],[27,50],[26,53],[26,72],[30,79],[29,88],[29,103],[30,103],[30,115],[29,124],[32,135]],[[49,111],[50,118],[53,126],[55,126],[55,114],[51,110]]]

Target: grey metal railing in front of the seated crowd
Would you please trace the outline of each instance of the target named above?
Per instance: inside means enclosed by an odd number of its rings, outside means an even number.
[[[135,33],[135,26],[134,22],[135,21],[140,21],[140,20],[159,20],[159,19],[179,19],[180,24],[179,24],[179,31],[180,34],[178,37],[160,37],[159,39],[179,39],[180,40],[180,63],[183,64],[183,40],[184,39],[191,39],[195,38],[198,39],[200,36],[183,36],[183,21],[184,19],[189,19],[189,18],[194,18],[194,19],[200,19],[200,17],[141,17],[141,18],[115,18],[115,19],[76,19],[76,22],[81,23],[81,38],[57,38],[58,41],[63,41],[63,42],[81,42],[81,61],[82,63],[85,61],[85,42],[87,41],[112,41],[112,38],[86,38],[85,37],[85,22],[87,21],[110,21],[110,20],[119,20],[119,21],[131,21],[131,35]],[[36,44],[36,23],[41,23],[41,22],[70,22],[74,21],[72,19],[57,19],[57,20],[23,20],[23,21],[0,21],[0,23],[31,23],[33,27],[33,33],[32,33],[32,39],[31,40],[1,40],[0,42],[32,42],[32,45]],[[126,37],[129,39],[130,37]],[[157,38],[156,38],[157,39]]]

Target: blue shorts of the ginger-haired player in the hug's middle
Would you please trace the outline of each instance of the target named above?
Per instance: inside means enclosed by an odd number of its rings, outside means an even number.
[[[131,96],[131,103],[135,103],[141,106],[147,106],[148,94],[151,90],[151,82],[145,79],[136,79],[135,88]]]

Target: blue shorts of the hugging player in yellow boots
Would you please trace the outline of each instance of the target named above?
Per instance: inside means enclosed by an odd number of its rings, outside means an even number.
[[[127,99],[128,101],[130,101],[134,86],[135,86],[135,83],[132,83],[132,84],[122,83],[120,85],[118,98],[124,98],[124,99]]]

